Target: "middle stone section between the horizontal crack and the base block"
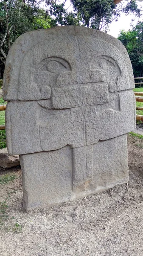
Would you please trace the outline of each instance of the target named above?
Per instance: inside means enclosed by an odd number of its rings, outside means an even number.
[[[128,90],[114,94],[105,104],[54,111],[43,108],[41,101],[8,102],[6,120],[11,122],[6,121],[6,135],[12,142],[8,153],[29,154],[65,145],[77,148],[133,131],[134,98]]]

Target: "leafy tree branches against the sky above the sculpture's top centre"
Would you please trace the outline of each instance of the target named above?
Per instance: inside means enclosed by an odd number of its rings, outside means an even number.
[[[66,18],[68,11],[64,8],[66,0],[62,4],[58,4],[56,0],[46,0],[45,2],[50,15],[54,16],[56,25],[76,25],[77,23],[107,32],[109,24],[113,20],[117,21],[121,12],[126,15],[134,13],[140,17],[140,9],[135,0],[131,0],[126,6],[123,6],[123,3],[117,5],[113,0],[70,0],[74,10],[74,12],[69,12],[70,22]]]

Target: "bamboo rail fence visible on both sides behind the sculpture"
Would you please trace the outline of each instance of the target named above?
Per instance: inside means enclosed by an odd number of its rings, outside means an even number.
[[[135,79],[143,79],[143,77],[136,77]],[[135,83],[135,84],[143,84],[143,82]],[[134,93],[135,93],[135,100],[137,102],[143,102],[143,97],[140,97],[140,96],[143,96],[143,92],[134,92]],[[6,105],[0,105],[0,111],[4,111],[4,110],[6,110]],[[136,107],[136,110],[143,110],[143,107]],[[138,121],[143,121],[143,116],[136,115],[136,119]],[[5,130],[5,129],[6,129],[5,125],[0,125],[0,130]]]

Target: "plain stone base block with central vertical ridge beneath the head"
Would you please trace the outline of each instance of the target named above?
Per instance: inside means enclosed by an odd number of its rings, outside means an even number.
[[[94,145],[20,155],[23,207],[53,206],[128,182],[127,134]]]

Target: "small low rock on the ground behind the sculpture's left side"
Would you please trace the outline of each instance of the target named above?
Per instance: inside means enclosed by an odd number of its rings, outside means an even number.
[[[0,149],[0,167],[11,168],[20,165],[19,156],[9,156],[7,148]]]

